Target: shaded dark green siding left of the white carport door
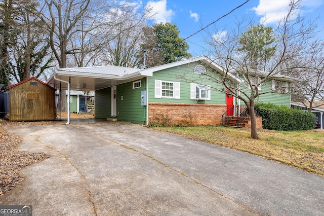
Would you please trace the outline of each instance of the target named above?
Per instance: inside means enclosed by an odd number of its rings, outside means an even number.
[[[95,91],[95,118],[110,118],[111,88]]]

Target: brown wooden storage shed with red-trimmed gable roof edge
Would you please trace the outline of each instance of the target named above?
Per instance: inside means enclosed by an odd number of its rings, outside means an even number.
[[[35,77],[9,86],[10,121],[55,120],[55,89]]]

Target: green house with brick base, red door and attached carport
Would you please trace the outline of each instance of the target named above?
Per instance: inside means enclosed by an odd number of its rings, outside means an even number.
[[[208,64],[208,68],[203,65]],[[201,80],[201,74],[222,68],[206,56],[147,69],[98,66],[62,68],[47,81],[56,89],[95,92],[95,118],[117,119],[137,124],[218,125],[222,116],[238,115],[240,101],[224,93],[221,84]],[[289,85],[290,80],[278,77]],[[230,75],[230,82],[244,81]],[[287,83],[287,84],[286,84]],[[275,82],[269,81],[274,88]],[[290,106],[290,94],[265,94],[260,101]],[[244,105],[244,104],[242,104]]]

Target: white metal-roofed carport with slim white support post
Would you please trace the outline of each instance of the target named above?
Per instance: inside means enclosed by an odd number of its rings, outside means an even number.
[[[70,124],[70,90],[97,91],[152,76],[152,71],[131,67],[113,65],[74,67],[55,70],[46,83],[55,89],[67,90],[68,119],[66,124]]]

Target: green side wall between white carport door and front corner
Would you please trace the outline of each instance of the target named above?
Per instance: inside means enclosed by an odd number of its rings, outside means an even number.
[[[140,88],[133,89],[133,82],[117,86],[118,120],[129,121],[137,124],[146,124],[146,106],[141,105],[141,91],[145,90],[145,80],[146,78],[140,80]]]

